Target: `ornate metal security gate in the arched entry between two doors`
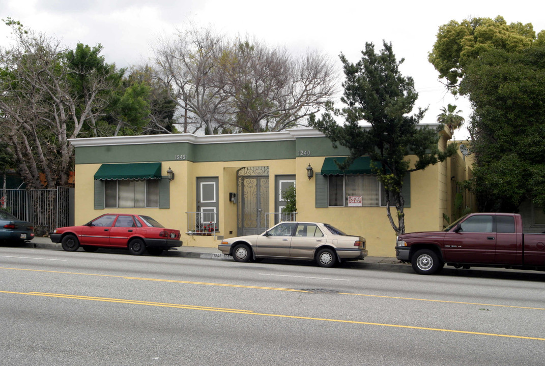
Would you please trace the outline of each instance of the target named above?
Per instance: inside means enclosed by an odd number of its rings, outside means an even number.
[[[237,235],[261,234],[269,212],[269,167],[241,168],[237,180]]]

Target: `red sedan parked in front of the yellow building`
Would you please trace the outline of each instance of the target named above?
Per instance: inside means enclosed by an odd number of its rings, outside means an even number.
[[[151,255],[181,247],[180,230],[165,229],[144,215],[106,213],[80,226],[57,228],[49,233],[51,241],[61,243],[68,252],[95,252],[98,248],[128,248],[134,255],[148,250]]]

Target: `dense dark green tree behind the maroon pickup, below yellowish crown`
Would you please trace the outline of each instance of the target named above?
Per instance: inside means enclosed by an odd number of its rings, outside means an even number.
[[[545,47],[490,50],[465,67],[460,90],[474,113],[471,189],[481,211],[545,206]]]

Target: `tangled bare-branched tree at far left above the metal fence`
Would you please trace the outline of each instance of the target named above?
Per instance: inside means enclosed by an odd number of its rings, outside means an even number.
[[[0,48],[0,139],[29,188],[68,185],[74,158],[68,139],[104,107],[105,75],[87,71],[84,95],[74,93],[70,77],[78,71],[68,67],[60,42],[20,22],[6,24],[15,45]]]

